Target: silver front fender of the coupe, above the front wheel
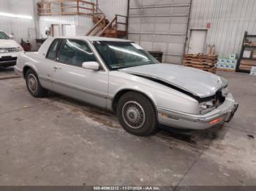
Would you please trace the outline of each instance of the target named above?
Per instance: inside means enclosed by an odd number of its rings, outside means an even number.
[[[121,76],[117,77],[115,73],[114,76],[110,75],[109,77],[109,101],[107,105],[109,109],[113,109],[112,104],[118,93],[132,90],[146,95],[156,107],[190,114],[199,113],[198,101],[189,95],[143,77],[120,73],[118,75]]]

